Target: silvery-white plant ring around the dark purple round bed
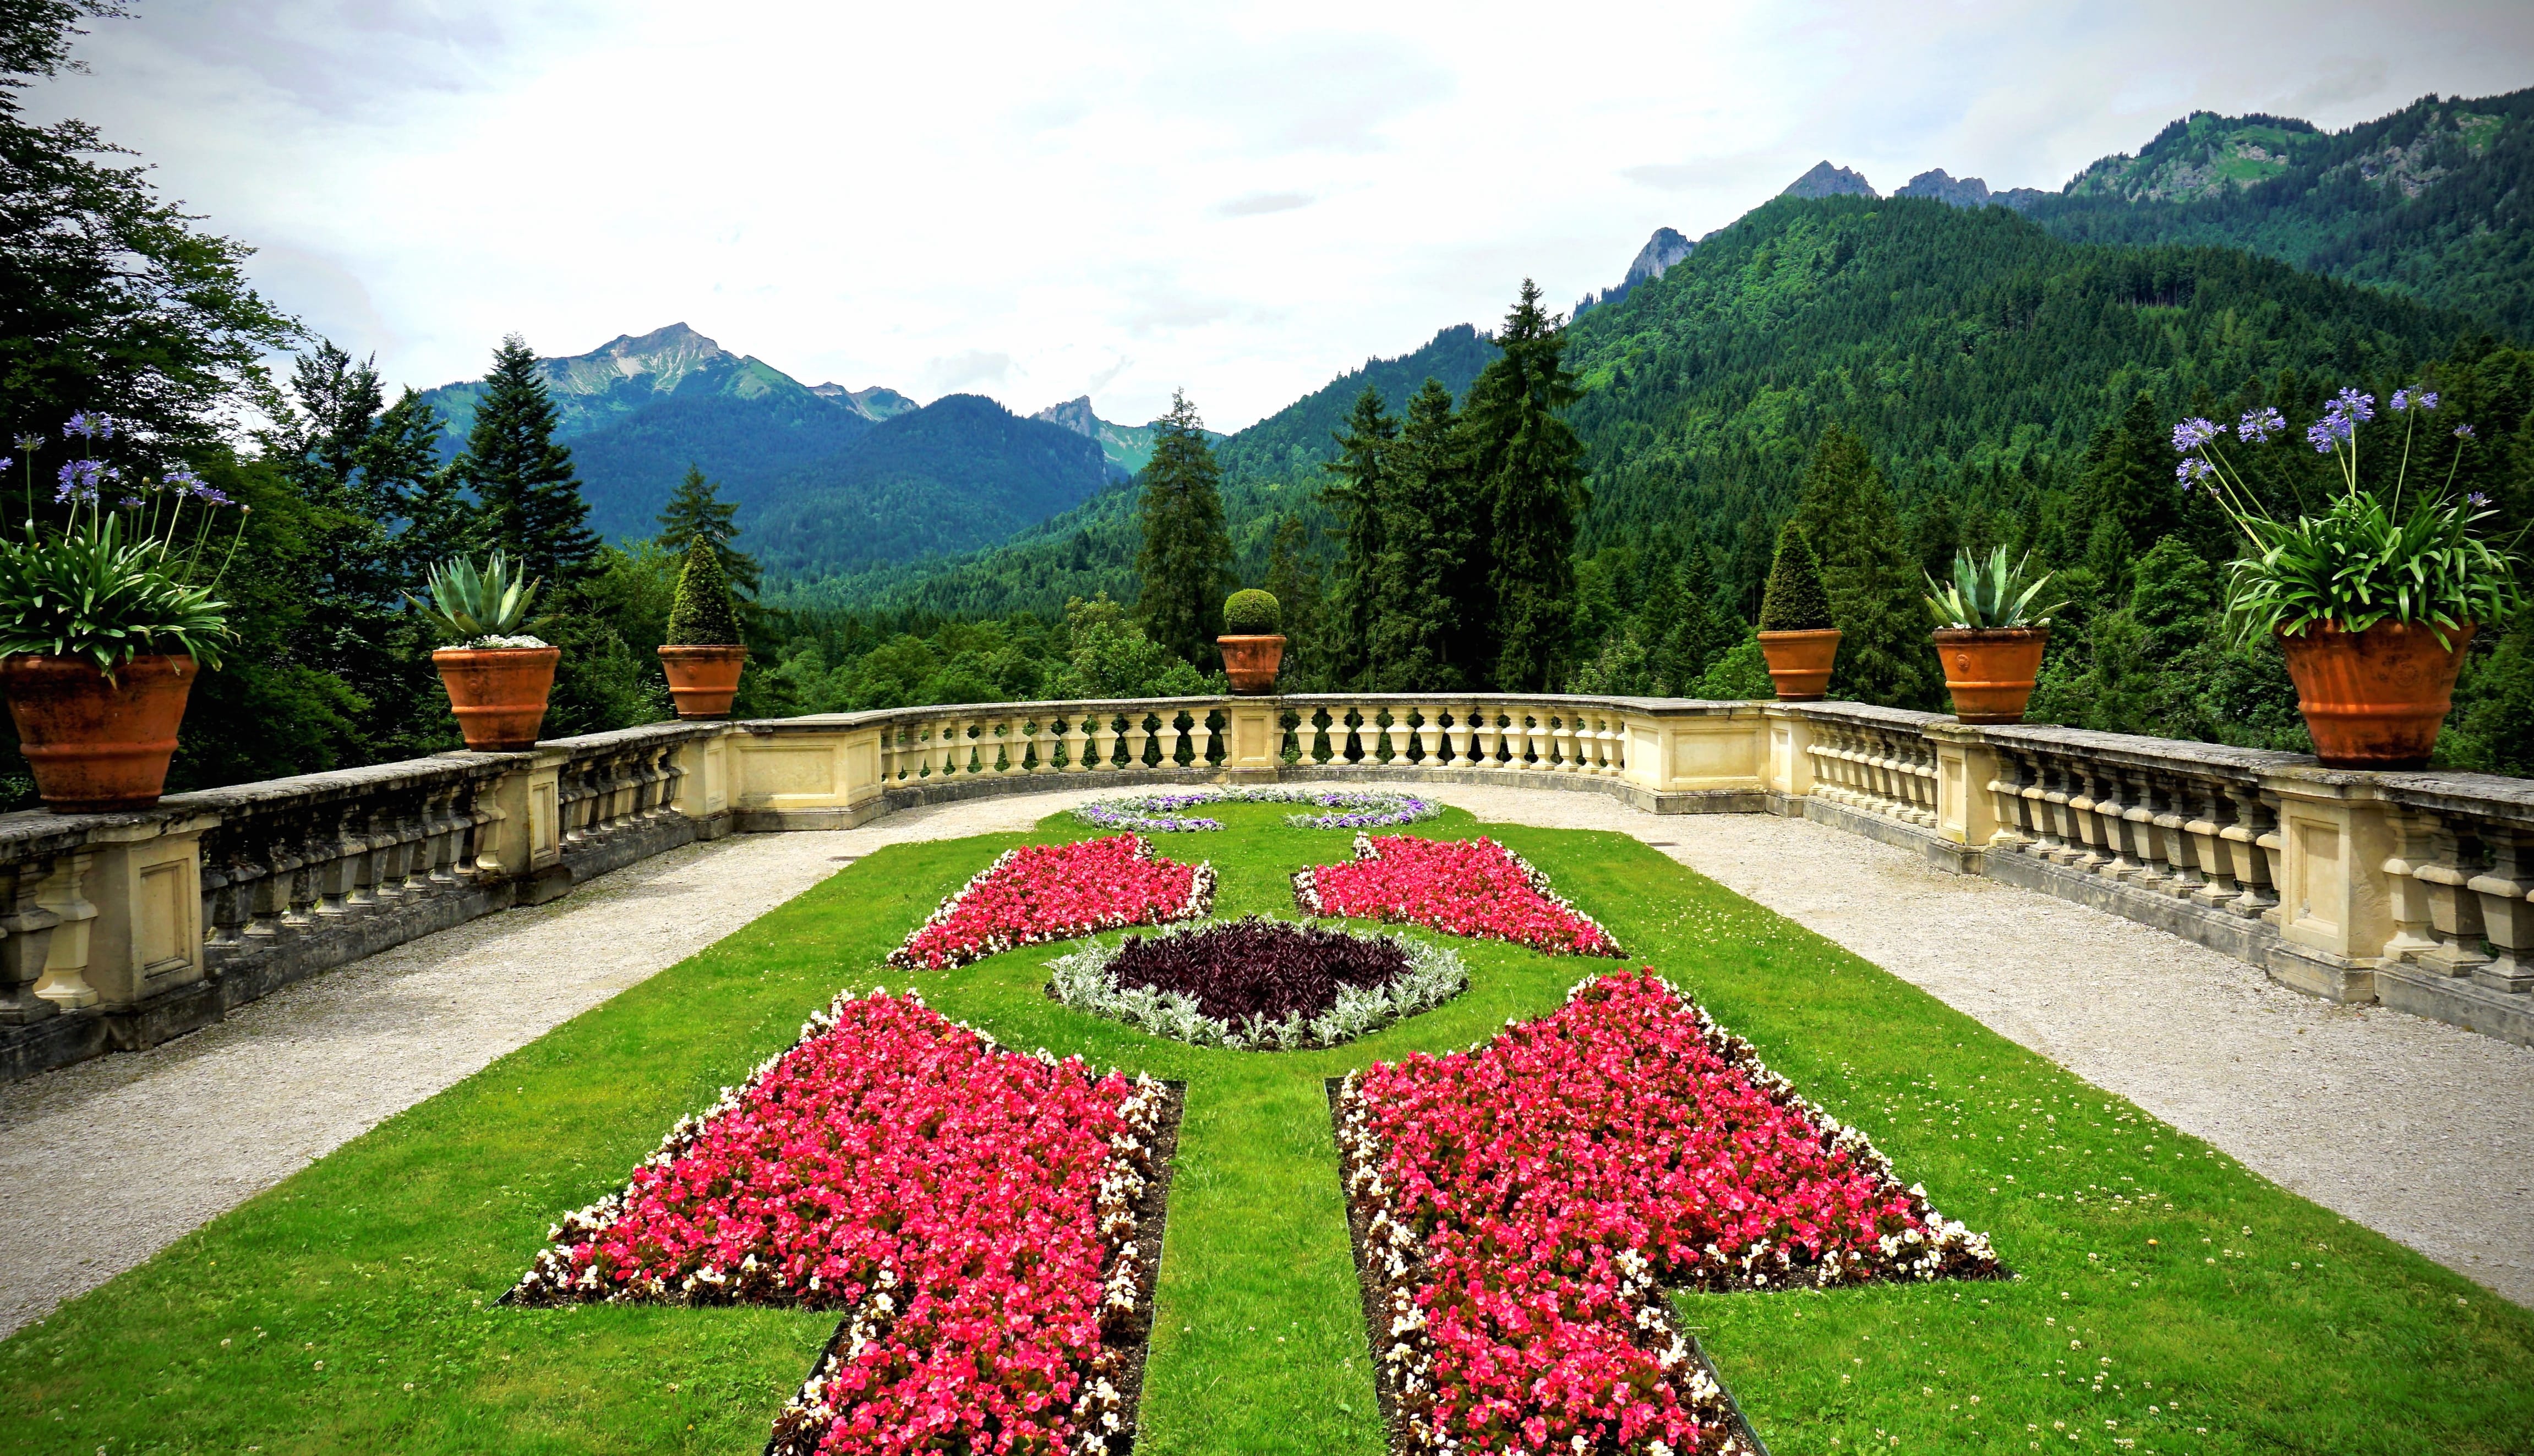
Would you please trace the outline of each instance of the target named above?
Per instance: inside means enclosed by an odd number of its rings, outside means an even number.
[[[1171,937],[1204,934],[1224,924],[1234,922],[1201,919],[1173,929]],[[1285,919],[1275,924],[1297,922]],[[1128,990],[1107,975],[1110,962],[1115,962],[1117,952],[1125,950],[1125,937],[1117,942],[1095,939],[1072,955],[1049,960],[1047,970],[1054,972],[1052,985],[1057,990],[1057,1000],[1074,1010],[1123,1020],[1135,1031],[1168,1036],[1171,1041],[1186,1041],[1188,1046],[1224,1046],[1232,1051],[1308,1051],[1338,1046],[1343,1041],[1356,1041],[1358,1036],[1371,1036],[1384,1026],[1434,1010],[1470,988],[1470,967],[1439,945],[1427,945],[1404,934],[1348,934],[1348,939],[1386,939],[1396,945],[1406,952],[1409,970],[1399,980],[1381,988],[1340,985],[1338,1000],[1310,1020],[1305,1020],[1302,1013],[1292,1013],[1285,1020],[1252,1015],[1234,1023],[1199,1010],[1199,1000],[1194,995],[1148,988]]]

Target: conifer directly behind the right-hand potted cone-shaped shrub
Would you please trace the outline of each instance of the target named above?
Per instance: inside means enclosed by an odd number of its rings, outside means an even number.
[[[1830,615],[1842,633],[1830,696],[1898,709],[1941,706],[1926,582],[1865,441],[1842,425],[1822,428],[1794,522],[1822,562]]]

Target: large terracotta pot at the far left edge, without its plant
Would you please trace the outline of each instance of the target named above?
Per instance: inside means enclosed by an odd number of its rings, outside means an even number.
[[[0,661],[18,752],[43,805],[53,813],[155,805],[167,788],[193,671],[188,656],[132,658],[114,681],[84,658]]]

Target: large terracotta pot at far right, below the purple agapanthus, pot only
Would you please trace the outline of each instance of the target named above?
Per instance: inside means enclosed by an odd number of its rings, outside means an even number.
[[[2435,628],[2412,623],[2377,623],[2364,633],[2316,623],[2296,636],[2278,633],[2314,755],[2326,767],[2428,767],[2473,631],[2455,628],[2448,643]]]

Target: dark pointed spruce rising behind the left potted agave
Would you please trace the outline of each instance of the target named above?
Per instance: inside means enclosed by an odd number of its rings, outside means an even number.
[[[451,471],[474,489],[484,537],[547,582],[568,582],[598,555],[573,451],[555,443],[555,400],[527,339],[509,334],[484,375],[484,400]]]

